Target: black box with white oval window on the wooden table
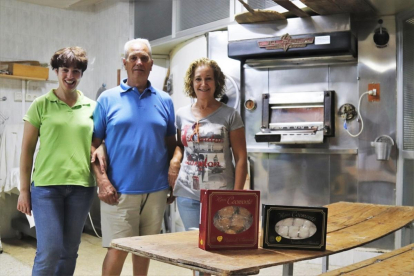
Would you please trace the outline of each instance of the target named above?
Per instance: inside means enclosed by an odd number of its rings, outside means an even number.
[[[262,205],[263,248],[325,250],[328,208]]]

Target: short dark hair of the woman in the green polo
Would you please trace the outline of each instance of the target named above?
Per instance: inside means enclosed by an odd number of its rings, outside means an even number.
[[[82,70],[82,73],[86,71],[88,67],[88,57],[86,51],[81,47],[66,47],[57,50],[50,59],[50,66],[52,69],[58,69],[59,67],[75,67]]]

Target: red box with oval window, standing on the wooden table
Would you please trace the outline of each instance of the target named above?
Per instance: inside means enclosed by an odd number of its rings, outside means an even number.
[[[259,239],[259,191],[201,190],[198,246],[204,250],[252,249]]]

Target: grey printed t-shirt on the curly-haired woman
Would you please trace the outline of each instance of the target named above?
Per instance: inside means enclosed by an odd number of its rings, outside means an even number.
[[[181,130],[178,139],[184,145],[184,156],[174,196],[200,200],[200,189],[234,188],[229,133],[244,125],[239,113],[223,103],[216,111],[198,121],[198,135],[196,125],[191,105],[177,111],[176,127]]]

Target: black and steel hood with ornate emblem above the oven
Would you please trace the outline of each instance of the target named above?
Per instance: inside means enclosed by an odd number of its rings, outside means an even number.
[[[245,66],[278,67],[357,61],[348,14],[230,25],[228,56]]]

